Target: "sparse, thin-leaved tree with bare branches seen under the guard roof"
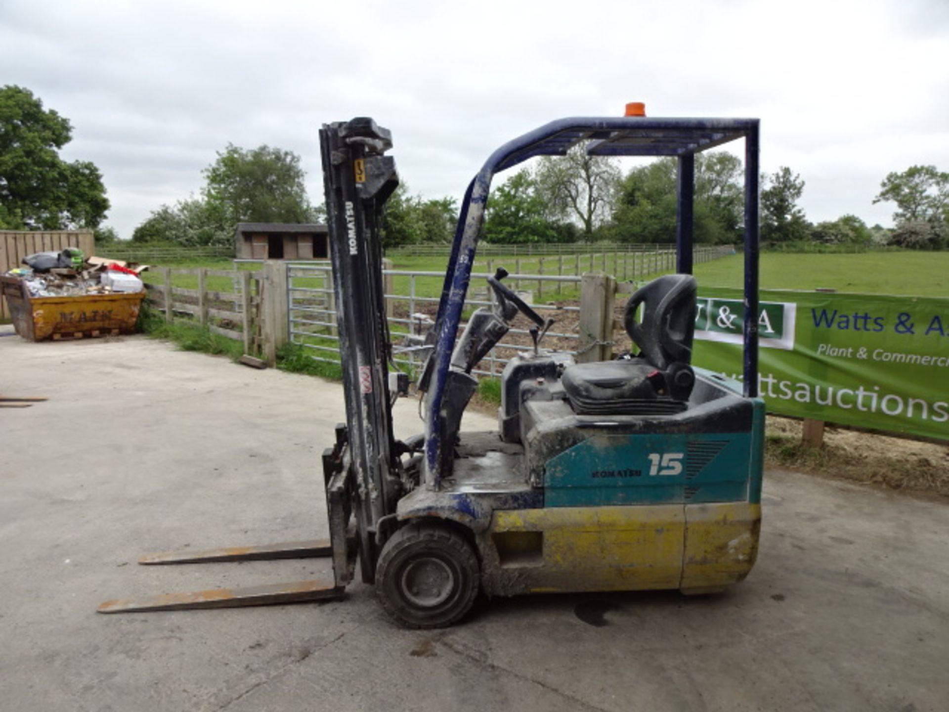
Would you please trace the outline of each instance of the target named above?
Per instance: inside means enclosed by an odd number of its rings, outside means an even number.
[[[613,159],[590,156],[586,144],[566,156],[545,156],[537,167],[537,189],[550,221],[578,220],[586,240],[612,215],[621,173]]]

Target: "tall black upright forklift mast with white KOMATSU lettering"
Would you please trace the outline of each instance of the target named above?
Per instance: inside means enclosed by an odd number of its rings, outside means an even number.
[[[354,514],[363,561],[375,560],[380,519],[400,496],[388,384],[390,343],[382,288],[381,210],[399,185],[392,137],[371,119],[320,130],[326,221],[338,305]]]

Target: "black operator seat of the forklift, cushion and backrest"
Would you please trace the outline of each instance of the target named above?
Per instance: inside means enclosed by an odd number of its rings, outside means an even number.
[[[639,356],[568,366],[561,383],[574,412],[662,415],[685,410],[696,382],[690,365],[696,291],[691,274],[667,274],[636,290],[626,304],[623,326]]]

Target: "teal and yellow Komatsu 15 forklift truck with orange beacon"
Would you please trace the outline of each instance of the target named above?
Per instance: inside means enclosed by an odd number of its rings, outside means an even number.
[[[388,130],[323,126],[320,143],[346,422],[323,455],[329,539],[167,553],[141,563],[332,557],[334,580],[121,599],[102,612],[338,598],[359,566],[407,628],[455,624],[479,592],[724,590],[751,571],[760,528],[764,403],[757,397],[758,121],[621,118],[550,122],[497,149],[468,186],[417,390],[424,431],[397,440],[409,390],[392,361],[382,290],[381,212],[399,184]],[[695,155],[745,141],[743,381],[691,365]],[[582,145],[592,156],[678,160],[677,273],[635,291],[623,327],[638,348],[575,363],[541,347],[551,325],[488,275],[491,307],[461,313],[494,174]],[[498,429],[460,432],[473,371],[521,314],[533,349],[501,377]],[[391,367],[390,367],[391,366]]]

